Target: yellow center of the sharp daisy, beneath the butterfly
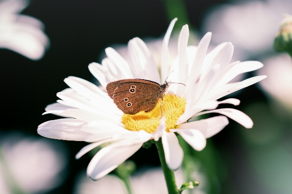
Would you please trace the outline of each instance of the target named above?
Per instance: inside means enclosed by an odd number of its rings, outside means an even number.
[[[122,123],[129,131],[145,130],[147,133],[153,133],[157,130],[161,119],[161,99],[155,108],[150,112],[140,111],[135,115],[124,114]],[[166,121],[166,131],[176,128],[176,122],[183,114],[185,108],[185,99],[171,94],[166,94],[162,103],[162,114]]]

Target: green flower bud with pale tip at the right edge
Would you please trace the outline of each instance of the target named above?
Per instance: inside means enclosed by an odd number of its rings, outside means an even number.
[[[274,40],[274,49],[292,56],[292,16],[289,14],[285,14],[281,22],[281,31]]]

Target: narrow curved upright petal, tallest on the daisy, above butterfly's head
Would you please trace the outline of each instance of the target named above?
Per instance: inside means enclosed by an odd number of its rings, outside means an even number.
[[[168,41],[169,41],[169,38],[170,38],[170,34],[172,32],[172,29],[174,27],[174,24],[175,22],[178,20],[178,18],[174,18],[168,28],[167,28],[167,31],[164,35],[164,39],[163,39],[163,42],[162,42],[162,51],[161,51],[161,83],[164,83],[164,80],[166,79],[167,77],[167,73],[169,72],[168,69],[169,69],[169,52],[168,52]]]

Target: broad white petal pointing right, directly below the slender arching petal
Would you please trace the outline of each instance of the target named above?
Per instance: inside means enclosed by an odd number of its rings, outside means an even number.
[[[198,129],[205,138],[210,138],[219,133],[229,123],[227,117],[217,116],[208,119],[201,119],[199,121],[193,121],[189,123],[183,123],[179,125],[179,129]]]

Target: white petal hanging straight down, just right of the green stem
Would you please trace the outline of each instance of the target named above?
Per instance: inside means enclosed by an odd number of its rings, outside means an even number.
[[[173,132],[164,132],[162,135],[165,161],[171,170],[177,170],[183,163],[183,149]]]

